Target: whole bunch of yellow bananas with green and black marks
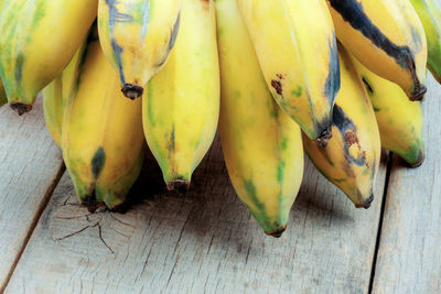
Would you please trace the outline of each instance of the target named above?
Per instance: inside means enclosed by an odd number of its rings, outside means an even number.
[[[168,189],[187,190],[218,124],[238,197],[280,237],[303,149],[363,208],[381,146],[423,162],[426,68],[441,83],[435,1],[0,0],[0,105],[23,115],[43,90],[92,211],[125,203],[146,140]]]

